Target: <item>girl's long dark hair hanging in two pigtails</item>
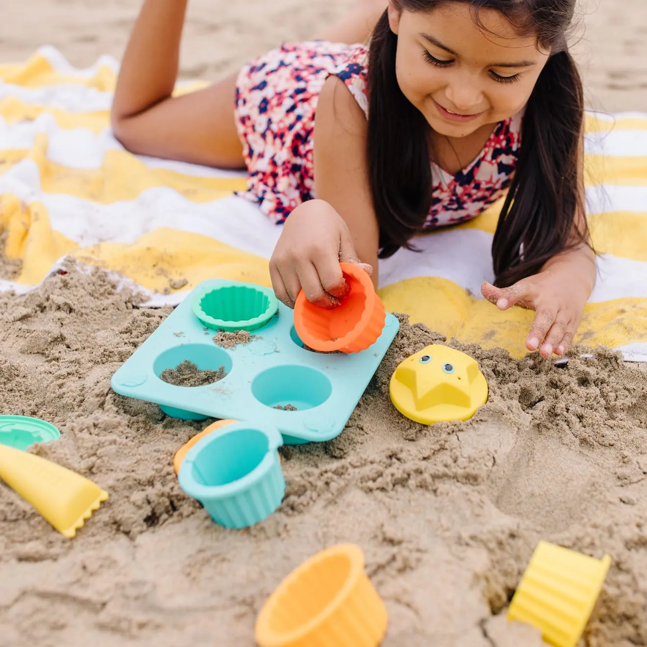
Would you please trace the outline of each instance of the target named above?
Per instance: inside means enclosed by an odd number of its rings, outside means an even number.
[[[584,98],[566,46],[576,0],[394,1],[411,12],[465,2],[476,21],[480,9],[498,10],[520,33],[536,34],[538,44],[552,52],[525,109],[520,155],[494,234],[496,284],[511,285],[538,272],[555,254],[588,245],[586,225],[574,229],[576,214],[584,214],[578,173]],[[380,258],[400,247],[414,248],[411,237],[421,230],[432,201],[429,126],[400,91],[396,49],[397,36],[384,12],[371,38],[368,63],[367,155]]]

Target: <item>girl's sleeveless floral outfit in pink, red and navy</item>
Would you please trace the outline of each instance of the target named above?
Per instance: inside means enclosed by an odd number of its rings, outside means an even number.
[[[313,130],[325,80],[335,74],[368,113],[367,48],[313,41],[285,43],[243,67],[235,118],[248,190],[243,197],[283,223],[314,195]],[[521,113],[499,122],[475,160],[452,175],[432,165],[432,205],[425,229],[472,219],[510,186],[521,144]]]

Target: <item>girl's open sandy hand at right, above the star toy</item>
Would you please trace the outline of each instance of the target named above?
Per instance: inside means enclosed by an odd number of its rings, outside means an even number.
[[[540,349],[543,357],[564,355],[573,341],[591,285],[577,280],[573,274],[566,276],[559,270],[543,270],[506,288],[490,283],[481,285],[481,293],[500,310],[513,305],[534,310],[530,333],[526,338],[529,351]]]

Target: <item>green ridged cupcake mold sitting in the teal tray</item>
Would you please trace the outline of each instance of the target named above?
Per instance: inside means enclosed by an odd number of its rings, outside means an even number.
[[[214,330],[252,331],[276,314],[279,302],[270,289],[252,283],[221,281],[193,295],[193,314]]]

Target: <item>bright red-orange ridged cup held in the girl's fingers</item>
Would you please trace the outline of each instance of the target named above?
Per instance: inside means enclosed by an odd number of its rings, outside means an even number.
[[[315,351],[359,353],[382,334],[386,312],[371,277],[355,263],[340,263],[350,288],[347,297],[331,310],[310,303],[303,290],[294,304],[294,329]]]

